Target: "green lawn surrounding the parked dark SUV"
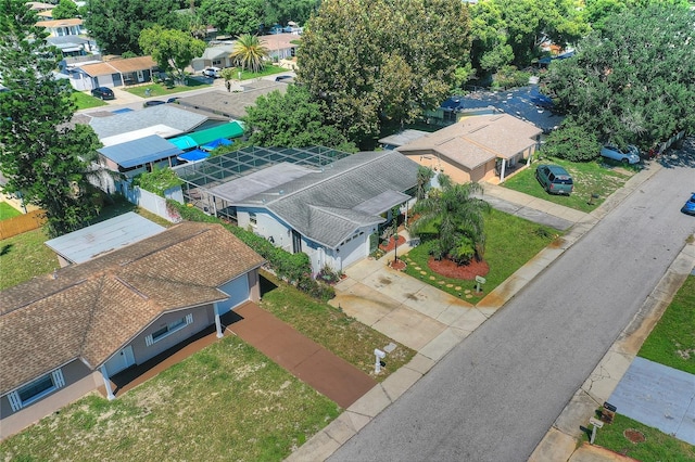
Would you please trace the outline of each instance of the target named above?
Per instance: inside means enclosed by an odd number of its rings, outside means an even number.
[[[565,167],[574,180],[572,194],[566,196],[546,193],[535,179],[535,168],[540,164],[556,164]],[[623,166],[611,162],[574,163],[544,157],[505,180],[502,185],[555,204],[589,213],[598,207],[616,190],[620,189],[635,174],[636,168],[639,167]],[[592,198],[592,194],[598,197]]]

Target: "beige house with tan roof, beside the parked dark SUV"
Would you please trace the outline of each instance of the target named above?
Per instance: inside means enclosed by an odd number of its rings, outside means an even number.
[[[505,176],[531,162],[543,130],[508,114],[465,117],[428,133],[397,151],[416,163],[446,174],[456,183],[504,181]]]

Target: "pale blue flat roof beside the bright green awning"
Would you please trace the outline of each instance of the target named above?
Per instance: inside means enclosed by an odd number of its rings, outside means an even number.
[[[104,157],[130,168],[150,162],[161,161],[182,153],[180,149],[157,134],[127,141],[98,150]]]

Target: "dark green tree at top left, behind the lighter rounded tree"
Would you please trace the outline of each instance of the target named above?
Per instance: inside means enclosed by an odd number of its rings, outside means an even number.
[[[142,29],[155,24],[177,28],[181,18],[175,11],[180,8],[179,0],[88,0],[85,25],[102,52],[139,55]]]

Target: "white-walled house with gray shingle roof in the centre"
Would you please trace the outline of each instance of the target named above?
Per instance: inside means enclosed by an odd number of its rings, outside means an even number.
[[[298,158],[312,155],[287,151]],[[239,227],[290,253],[306,253],[314,273],[325,266],[342,271],[376,251],[380,227],[391,221],[393,208],[407,209],[417,184],[417,164],[394,151],[352,154],[320,167],[280,162],[279,152],[269,158],[277,163],[262,166],[247,152],[216,157],[248,170],[198,188],[199,194],[214,198],[208,211],[225,209]]]

